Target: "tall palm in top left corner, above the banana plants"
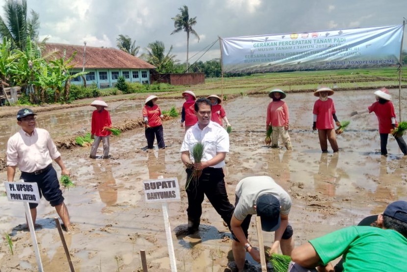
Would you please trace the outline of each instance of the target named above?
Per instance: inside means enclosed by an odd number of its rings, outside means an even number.
[[[0,17],[0,36],[9,39],[13,48],[24,51],[27,37],[38,40],[39,15],[31,10],[31,18],[27,18],[26,0],[6,0],[3,9],[5,18]]]

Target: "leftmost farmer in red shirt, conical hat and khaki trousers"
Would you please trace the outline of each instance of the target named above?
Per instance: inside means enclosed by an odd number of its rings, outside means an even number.
[[[110,130],[104,129],[104,127],[111,127],[112,121],[110,120],[110,114],[105,108],[107,108],[106,102],[102,100],[95,100],[91,106],[96,107],[96,111],[92,113],[92,130],[91,138],[95,139],[90,150],[90,158],[96,159],[96,152],[98,151],[99,144],[102,141],[103,144],[103,159],[109,158],[109,138]]]

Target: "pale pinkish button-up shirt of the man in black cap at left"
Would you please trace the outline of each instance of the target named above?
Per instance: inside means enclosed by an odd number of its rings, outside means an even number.
[[[7,141],[7,166],[18,165],[23,172],[44,169],[60,156],[45,129],[35,128],[31,136],[21,129]]]

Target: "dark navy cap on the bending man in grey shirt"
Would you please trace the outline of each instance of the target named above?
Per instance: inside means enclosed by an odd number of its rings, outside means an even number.
[[[280,227],[280,201],[272,194],[263,194],[256,201],[257,216],[261,219],[261,229],[275,231]]]

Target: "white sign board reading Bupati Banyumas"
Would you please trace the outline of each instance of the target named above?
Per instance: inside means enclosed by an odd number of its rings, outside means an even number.
[[[181,201],[178,179],[158,179],[143,181],[146,202]]]

